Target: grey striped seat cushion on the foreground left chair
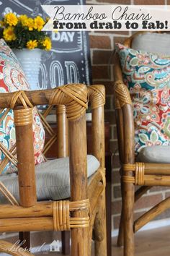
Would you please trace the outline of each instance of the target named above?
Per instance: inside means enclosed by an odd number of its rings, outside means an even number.
[[[88,178],[99,168],[99,161],[93,155],[87,155]],[[71,196],[69,177],[69,158],[49,160],[35,166],[37,200],[61,200]],[[0,181],[19,201],[17,174],[0,176]],[[0,202],[6,199],[0,194]]]

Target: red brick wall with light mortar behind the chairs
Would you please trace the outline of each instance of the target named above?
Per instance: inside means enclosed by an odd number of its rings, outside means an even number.
[[[86,0],[87,4],[170,4],[170,0]],[[112,230],[117,229],[120,220],[121,195],[119,175],[119,155],[117,153],[117,132],[115,124],[115,109],[113,100],[113,69],[114,65],[110,56],[115,42],[122,42],[130,34],[126,32],[90,33],[91,64],[93,83],[101,83],[106,87],[107,102],[105,106],[105,118],[110,123],[110,148],[115,156],[112,159]],[[153,188],[144,195],[135,205],[135,216],[138,218],[151,206],[170,195],[170,189],[166,187]],[[170,210],[167,210],[159,218],[168,218]]]

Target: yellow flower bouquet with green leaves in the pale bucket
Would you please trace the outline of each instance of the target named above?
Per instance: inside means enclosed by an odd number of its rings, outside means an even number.
[[[37,16],[34,19],[27,15],[17,17],[14,13],[8,13],[0,21],[1,38],[11,48],[40,48],[49,51],[51,40],[42,30],[47,20]]]

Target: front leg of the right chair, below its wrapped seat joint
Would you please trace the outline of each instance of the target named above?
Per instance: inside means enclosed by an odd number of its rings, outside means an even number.
[[[123,185],[123,223],[124,223],[124,256],[134,256],[133,205],[135,186],[132,183]]]

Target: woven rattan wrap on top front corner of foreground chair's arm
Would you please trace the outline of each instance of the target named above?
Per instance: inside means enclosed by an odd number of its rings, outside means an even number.
[[[49,104],[65,105],[68,119],[78,119],[88,108],[86,90],[86,87],[80,86],[80,84],[69,84],[55,88]]]

